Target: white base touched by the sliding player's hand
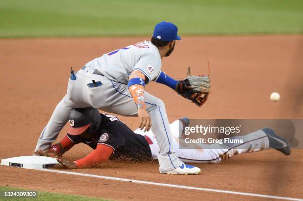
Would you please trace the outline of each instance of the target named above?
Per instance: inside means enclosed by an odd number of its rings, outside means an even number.
[[[1,160],[1,165],[26,169],[43,169],[59,164],[55,158],[46,156],[19,156]]]

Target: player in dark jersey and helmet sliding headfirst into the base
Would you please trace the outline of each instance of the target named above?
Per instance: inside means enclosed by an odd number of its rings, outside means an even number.
[[[182,124],[179,124],[179,121]],[[138,129],[135,132],[140,134],[136,134],[115,116],[99,114],[98,110],[92,107],[79,108],[72,110],[69,122],[71,127],[59,143],[52,145],[49,150],[39,150],[41,155],[56,157],[66,168],[96,167],[108,159],[119,162],[145,162],[158,158],[159,146],[152,132],[144,133]],[[178,134],[188,124],[189,120],[183,118],[170,125],[174,135],[171,141],[173,144],[177,145],[178,140],[182,140],[178,138]],[[270,147],[285,155],[291,153],[287,141],[269,128],[247,134],[242,138],[243,143],[230,148],[214,148],[213,145],[204,144],[199,149],[177,149],[176,152],[182,161],[196,163],[219,163],[235,154],[251,153]],[[76,161],[63,159],[62,155],[78,143],[85,143],[95,150]],[[168,174],[178,174],[178,172],[171,171]]]

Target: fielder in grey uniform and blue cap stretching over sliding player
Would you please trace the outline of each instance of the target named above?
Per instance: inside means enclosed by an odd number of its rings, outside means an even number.
[[[177,32],[173,23],[160,22],[154,28],[151,41],[104,54],[76,73],[71,70],[67,93],[42,131],[34,154],[39,154],[39,149],[50,148],[73,108],[94,107],[122,116],[138,116],[141,130],[152,128],[159,146],[160,173],[199,173],[199,168],[186,165],[178,158],[164,103],[144,89],[145,84],[155,81],[171,87],[198,106],[207,99],[210,87],[207,76],[174,80],[161,71],[161,59],[173,52],[176,40],[181,40]]]

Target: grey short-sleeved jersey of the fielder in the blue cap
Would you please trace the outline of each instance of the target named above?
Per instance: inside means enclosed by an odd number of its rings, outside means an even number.
[[[148,77],[147,83],[154,80],[160,73],[162,63],[157,47],[150,41],[143,41],[104,54],[85,66],[89,71],[97,69],[105,77],[127,84],[134,69],[140,70]]]

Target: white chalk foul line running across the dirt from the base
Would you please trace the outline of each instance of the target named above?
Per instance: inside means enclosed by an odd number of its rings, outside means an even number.
[[[252,197],[259,197],[259,198],[270,198],[270,199],[289,200],[289,201],[303,201],[303,199],[297,199],[297,198],[269,196],[269,195],[243,193],[243,192],[235,192],[235,191],[224,191],[224,190],[217,190],[217,189],[206,189],[206,188],[198,188],[198,187],[191,187],[191,186],[164,184],[164,183],[148,182],[148,181],[142,181],[142,180],[123,179],[123,178],[118,178],[118,177],[107,177],[107,176],[101,176],[101,175],[92,175],[92,174],[84,174],[84,173],[61,171],[61,170],[49,170],[49,169],[36,169],[36,170],[45,171],[45,172],[55,172],[55,173],[61,173],[61,174],[69,174],[69,175],[79,175],[79,176],[84,176],[84,177],[94,177],[94,178],[100,178],[100,179],[106,179],[106,180],[134,182],[134,183],[138,183],[138,184],[172,187],[172,188],[179,188],[179,189],[208,191],[208,192],[216,192],[216,193],[223,193],[223,194],[234,194],[234,195],[241,195],[241,196],[252,196]]]

